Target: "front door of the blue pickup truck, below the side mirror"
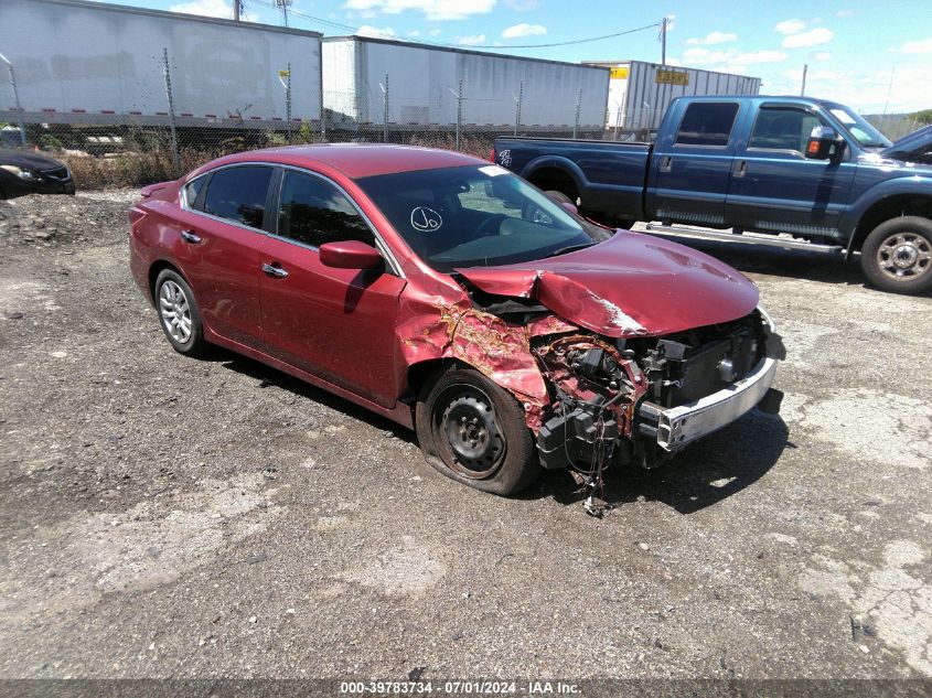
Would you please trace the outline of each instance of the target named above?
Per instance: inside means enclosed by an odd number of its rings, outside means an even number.
[[[749,137],[735,154],[726,201],[729,225],[764,233],[839,237],[857,163],[846,149],[842,161],[807,160],[813,127],[832,126],[813,109],[762,105]]]

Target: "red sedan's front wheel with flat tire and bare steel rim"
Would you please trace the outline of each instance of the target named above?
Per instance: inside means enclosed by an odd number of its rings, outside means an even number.
[[[540,474],[521,405],[476,371],[451,368],[428,382],[415,420],[427,462],[457,482],[510,495]]]

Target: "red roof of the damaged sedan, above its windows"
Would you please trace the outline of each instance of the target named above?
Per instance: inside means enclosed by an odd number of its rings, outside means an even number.
[[[389,143],[314,143],[268,148],[227,155],[211,162],[203,170],[235,162],[275,162],[299,168],[315,169],[324,165],[339,170],[350,179],[362,179],[395,172],[436,170],[469,164],[488,164],[465,153],[418,146]]]

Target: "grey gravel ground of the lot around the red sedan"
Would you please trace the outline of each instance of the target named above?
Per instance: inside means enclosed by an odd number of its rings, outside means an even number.
[[[932,299],[705,245],[789,357],[599,520],[226,353],[127,268],[132,192],[0,202],[0,677],[932,677]]]

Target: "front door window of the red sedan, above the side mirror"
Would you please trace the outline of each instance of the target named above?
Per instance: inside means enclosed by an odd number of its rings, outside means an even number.
[[[318,176],[291,170],[281,180],[278,234],[313,247],[344,240],[375,245],[368,224],[343,192]]]

